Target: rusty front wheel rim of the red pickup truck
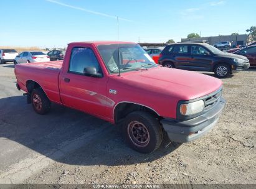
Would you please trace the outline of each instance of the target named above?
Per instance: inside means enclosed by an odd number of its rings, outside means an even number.
[[[149,143],[149,132],[146,126],[139,121],[132,121],[128,125],[128,135],[138,147],[145,147]]]

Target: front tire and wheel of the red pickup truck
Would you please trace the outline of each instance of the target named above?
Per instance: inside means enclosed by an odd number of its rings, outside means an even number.
[[[140,153],[154,152],[163,141],[163,131],[159,121],[145,111],[128,114],[122,129],[125,141],[132,149]],[[141,137],[136,139],[138,132]]]

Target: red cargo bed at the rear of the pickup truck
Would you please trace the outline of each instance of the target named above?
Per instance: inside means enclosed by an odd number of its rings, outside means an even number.
[[[61,103],[59,94],[59,73],[63,61],[22,63],[15,66],[17,83],[21,90],[27,91],[27,82],[36,81],[50,101]]]

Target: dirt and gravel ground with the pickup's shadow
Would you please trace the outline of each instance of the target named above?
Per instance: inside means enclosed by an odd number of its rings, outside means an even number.
[[[54,105],[37,115],[15,81],[0,65],[0,183],[256,184],[256,68],[222,79],[227,103],[211,132],[186,144],[165,136],[153,154],[87,114]]]

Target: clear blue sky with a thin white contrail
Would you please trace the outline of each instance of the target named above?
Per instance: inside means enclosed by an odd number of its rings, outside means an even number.
[[[69,42],[180,42],[247,34],[255,0],[0,0],[0,46],[66,47]]]

